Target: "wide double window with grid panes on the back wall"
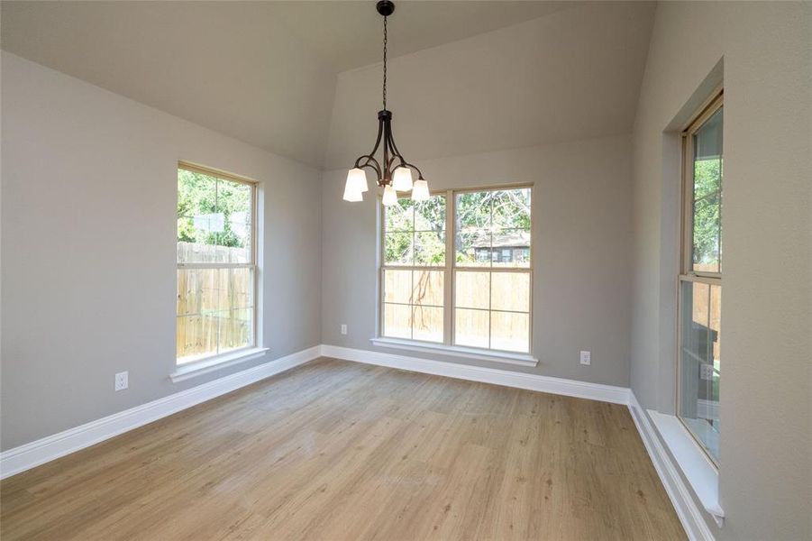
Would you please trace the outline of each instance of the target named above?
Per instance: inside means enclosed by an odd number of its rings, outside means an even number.
[[[496,188],[384,206],[381,335],[530,353],[530,202]]]

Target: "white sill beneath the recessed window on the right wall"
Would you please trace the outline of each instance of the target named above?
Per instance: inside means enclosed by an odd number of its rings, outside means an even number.
[[[699,502],[721,527],[725,520],[725,511],[719,505],[719,472],[716,466],[699,448],[685,426],[682,426],[680,419],[653,409],[649,409],[648,413]]]

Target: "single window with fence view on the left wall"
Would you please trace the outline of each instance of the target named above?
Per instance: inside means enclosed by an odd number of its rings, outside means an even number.
[[[255,345],[256,192],[178,165],[178,365]]]

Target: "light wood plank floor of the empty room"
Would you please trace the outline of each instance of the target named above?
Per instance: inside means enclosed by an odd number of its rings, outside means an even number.
[[[12,539],[681,539],[623,406],[319,360],[0,483]]]

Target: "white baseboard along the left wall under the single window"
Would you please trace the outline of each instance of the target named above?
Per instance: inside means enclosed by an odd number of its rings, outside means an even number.
[[[312,361],[320,354],[321,346],[316,345],[219,380],[209,381],[192,389],[182,390],[168,397],[70,428],[59,434],[43,437],[30,444],[14,447],[14,449],[0,453],[0,479],[24,472],[90,445],[96,445],[105,439],[177,413],[181,409],[191,408],[206,400],[264,380],[281,371]]]

